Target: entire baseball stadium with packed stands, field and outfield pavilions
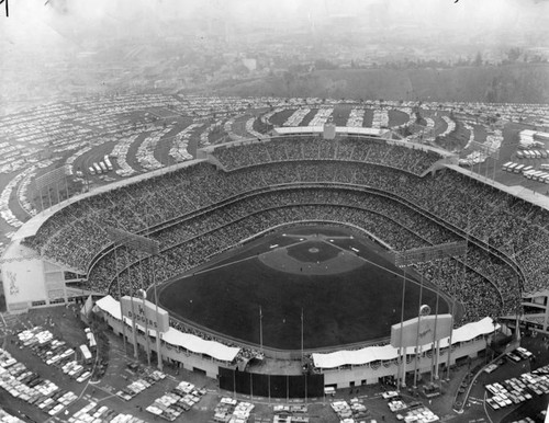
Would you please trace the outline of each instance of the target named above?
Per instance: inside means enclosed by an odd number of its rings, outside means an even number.
[[[438,376],[545,289],[547,209],[383,130],[283,128],[37,214],[2,258],[7,308],[86,301],[159,366],[242,392],[287,375],[281,395],[302,397],[411,363]],[[169,323],[136,323],[124,297]],[[419,334],[421,309],[449,316],[449,333],[395,344],[405,322]]]

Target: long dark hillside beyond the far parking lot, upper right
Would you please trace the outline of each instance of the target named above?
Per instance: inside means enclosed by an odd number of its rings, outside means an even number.
[[[224,95],[549,103],[549,64],[449,69],[335,69],[232,81]]]

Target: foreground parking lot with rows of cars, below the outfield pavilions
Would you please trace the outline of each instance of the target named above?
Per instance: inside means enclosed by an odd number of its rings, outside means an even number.
[[[486,385],[500,382],[507,386],[505,380],[519,378],[526,371],[549,364],[548,343],[541,336],[526,336],[523,340],[523,345],[533,352],[534,361],[520,357],[515,362],[507,358],[500,362],[493,371],[481,374],[464,404],[463,414],[458,414],[452,411],[455,393],[470,370],[470,365],[455,368],[451,379],[441,382],[442,395],[432,399],[417,396],[410,389],[401,390],[394,397],[388,395],[391,387],[380,385],[339,389],[334,396],[306,400],[250,398],[222,391],[216,380],[199,373],[178,369],[168,364],[159,371],[155,359],[150,366],[147,365],[143,351],[139,352],[139,359],[135,361],[132,345],[127,344],[124,352],[122,340],[107,332],[108,365],[103,371],[94,374],[97,354],[93,354],[92,363],[82,363],[79,346],[88,343],[85,331],[87,325],[77,317],[76,308],[57,307],[4,318],[5,324],[0,328],[2,350],[7,352],[5,356],[11,355],[16,363],[4,369],[0,380],[5,380],[7,374],[10,374],[12,380],[21,379],[18,381],[20,388],[25,382],[23,385],[26,387],[42,389],[36,400],[31,401],[31,398],[24,396],[14,398],[9,390],[0,388],[0,403],[8,413],[27,422],[166,420],[210,423],[236,419],[234,421],[328,423],[338,422],[344,415],[357,418],[356,422],[396,422],[397,415],[405,415],[406,412],[435,415],[440,421],[488,422],[490,418],[493,422],[514,422],[525,412],[534,416],[539,414],[544,400],[547,401],[548,398],[547,395],[541,395],[528,401],[528,407],[509,404],[500,410],[494,410],[485,402],[491,397]],[[40,333],[45,340],[48,338],[47,333],[51,333],[52,339],[45,341],[43,347],[40,342],[25,345],[25,341],[22,341],[24,333],[34,333],[35,338]],[[72,352],[68,356],[52,362],[56,355],[68,354],[70,351]],[[72,375],[64,371],[75,361],[76,364],[71,366],[81,365],[83,370]],[[478,359],[471,365],[483,363]],[[92,373],[89,378],[78,380],[75,377],[87,370]],[[428,376],[423,382],[427,379]],[[27,395],[29,392],[26,390]]]

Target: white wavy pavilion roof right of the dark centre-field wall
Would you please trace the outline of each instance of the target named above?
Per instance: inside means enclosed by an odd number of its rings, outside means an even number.
[[[496,325],[496,329],[500,325]],[[452,345],[458,342],[466,342],[494,331],[493,320],[486,317],[475,323],[468,323],[461,328],[455,329],[451,336]],[[449,345],[449,338],[440,340],[440,347]],[[423,351],[430,350],[432,344],[424,345]],[[414,347],[406,348],[406,354],[414,354]],[[399,350],[392,345],[368,346],[355,351],[337,351],[328,354],[313,353],[313,362],[317,368],[335,368],[339,366],[355,365],[360,366],[376,361],[389,361],[399,356]]]

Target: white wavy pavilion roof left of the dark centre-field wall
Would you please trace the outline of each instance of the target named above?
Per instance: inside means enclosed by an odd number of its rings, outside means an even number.
[[[120,302],[110,295],[98,300],[96,305],[115,319],[121,320]],[[131,319],[124,318],[124,321],[132,325]],[[137,328],[145,332],[145,328],[142,324],[137,324]],[[149,329],[148,333],[150,336],[156,338],[155,330]],[[161,339],[173,346],[181,346],[197,354],[206,354],[222,362],[232,362],[240,351],[238,347],[227,346],[216,341],[205,341],[200,336],[180,332],[173,328],[169,328],[168,331],[163,334]]]

